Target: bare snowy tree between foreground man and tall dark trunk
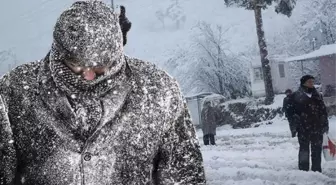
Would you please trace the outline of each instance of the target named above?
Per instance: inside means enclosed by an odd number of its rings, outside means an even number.
[[[225,33],[229,28],[212,28],[210,24],[200,23],[201,37],[196,39],[199,60],[197,77],[203,87],[217,94],[236,98],[249,92],[247,66],[237,56],[225,48]]]

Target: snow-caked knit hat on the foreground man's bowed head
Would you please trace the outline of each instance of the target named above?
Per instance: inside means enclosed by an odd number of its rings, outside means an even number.
[[[54,28],[51,57],[98,67],[122,60],[119,15],[101,1],[78,1],[64,11]],[[115,64],[116,65],[116,64]]]

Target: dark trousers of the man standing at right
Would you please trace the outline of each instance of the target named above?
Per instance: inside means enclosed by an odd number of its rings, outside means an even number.
[[[300,144],[299,169],[309,171],[309,155],[311,152],[312,171],[321,172],[321,155],[323,134],[312,132],[299,132],[298,139]]]

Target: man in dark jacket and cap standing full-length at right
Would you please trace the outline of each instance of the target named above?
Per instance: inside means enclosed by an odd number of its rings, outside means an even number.
[[[311,170],[321,172],[323,133],[328,132],[329,123],[326,106],[314,87],[313,76],[301,78],[301,86],[291,95],[289,102],[300,144],[299,169],[309,170],[311,152]]]

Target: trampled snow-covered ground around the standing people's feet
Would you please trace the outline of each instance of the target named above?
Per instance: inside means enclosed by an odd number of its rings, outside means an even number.
[[[297,167],[298,141],[291,138],[286,120],[249,129],[221,127],[217,146],[203,146],[209,185],[331,185],[336,184],[336,162],[325,162],[323,173]],[[336,136],[336,118],[330,120]],[[198,131],[202,143],[202,132]],[[335,137],[334,137],[335,138]]]

